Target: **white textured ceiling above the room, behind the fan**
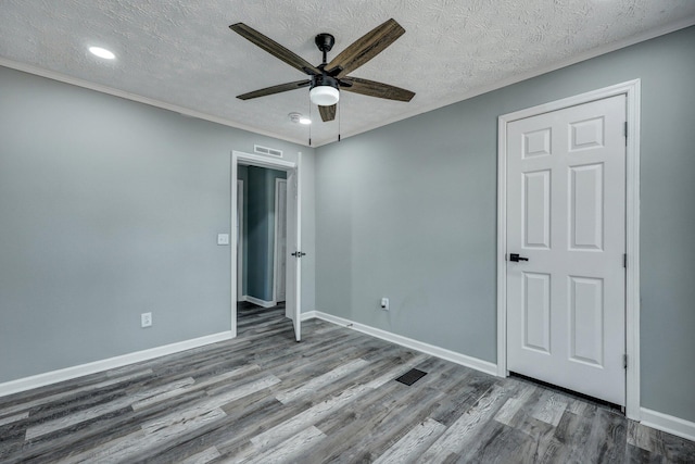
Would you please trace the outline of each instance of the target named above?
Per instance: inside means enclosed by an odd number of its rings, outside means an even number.
[[[242,22],[319,64],[386,20],[406,33],[352,76],[415,91],[409,103],[341,92],[340,117],[314,146],[443,106],[620,46],[695,24],[693,0],[2,0],[0,63],[63,75],[179,108],[184,113],[306,145],[308,90],[237,95],[304,75],[228,26]],[[102,61],[89,46],[114,51]],[[54,74],[56,73],[56,74]],[[70,80],[70,79],[68,79]],[[340,123],[339,123],[340,121]]]

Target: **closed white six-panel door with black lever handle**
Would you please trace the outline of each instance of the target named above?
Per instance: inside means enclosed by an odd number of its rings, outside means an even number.
[[[620,405],[624,122],[620,95],[507,125],[507,368]]]

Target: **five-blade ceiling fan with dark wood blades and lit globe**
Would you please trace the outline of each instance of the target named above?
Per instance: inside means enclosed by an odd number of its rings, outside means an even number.
[[[405,34],[405,29],[393,18],[375,27],[354,41],[350,47],[339,53],[338,57],[333,58],[330,63],[326,62],[326,55],[333,48],[336,38],[330,34],[317,35],[314,41],[324,54],[324,60],[318,66],[312,65],[296,53],[243,23],[232,24],[229,28],[271,55],[309,76],[308,80],[304,79],[280,84],[240,95],[237,98],[241,100],[309,87],[309,99],[312,103],[318,105],[321,120],[327,122],[336,118],[336,105],[340,99],[340,90],[405,102],[410,101],[410,99],[415,97],[415,92],[410,90],[348,75],[382,52],[399,37]]]

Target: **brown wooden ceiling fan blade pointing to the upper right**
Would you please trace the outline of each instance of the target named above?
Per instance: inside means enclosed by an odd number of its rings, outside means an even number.
[[[381,53],[387,47],[405,34],[405,29],[391,18],[375,27],[341,51],[326,65],[328,74],[336,77],[346,76],[352,71]],[[338,74],[334,74],[338,72]]]

